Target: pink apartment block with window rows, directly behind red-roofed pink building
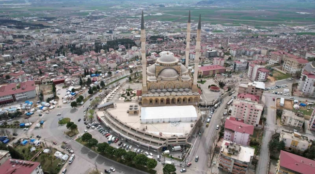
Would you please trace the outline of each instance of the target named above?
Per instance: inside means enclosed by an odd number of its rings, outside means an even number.
[[[235,99],[233,101],[231,116],[244,120],[244,123],[253,126],[259,125],[260,116],[264,110],[264,105],[245,99]]]

